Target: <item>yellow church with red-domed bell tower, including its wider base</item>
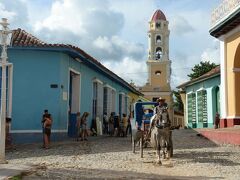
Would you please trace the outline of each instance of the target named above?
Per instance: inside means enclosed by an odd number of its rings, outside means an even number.
[[[169,22],[161,10],[155,11],[148,31],[148,80],[138,90],[150,101],[159,97],[166,100],[169,112],[172,114],[172,93],[170,86],[171,61],[169,60]]]

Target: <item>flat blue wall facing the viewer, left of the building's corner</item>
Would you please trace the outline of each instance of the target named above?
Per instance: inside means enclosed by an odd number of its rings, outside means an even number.
[[[53,116],[53,129],[65,129],[59,114],[59,53],[10,50],[13,63],[12,129],[40,130],[44,109]]]

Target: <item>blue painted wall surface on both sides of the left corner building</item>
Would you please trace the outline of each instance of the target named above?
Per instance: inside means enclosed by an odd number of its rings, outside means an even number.
[[[44,109],[53,116],[53,130],[67,131],[69,70],[80,73],[80,112],[90,112],[88,126],[92,120],[92,80],[96,77],[117,90],[129,91],[95,69],[89,68],[63,52],[9,49],[9,62],[13,63],[12,130],[39,130]],[[51,88],[51,84],[58,85]]]

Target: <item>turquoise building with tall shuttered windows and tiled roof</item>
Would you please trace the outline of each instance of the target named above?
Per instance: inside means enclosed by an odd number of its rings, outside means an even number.
[[[185,126],[211,128],[220,112],[220,66],[179,85],[184,103]]]

